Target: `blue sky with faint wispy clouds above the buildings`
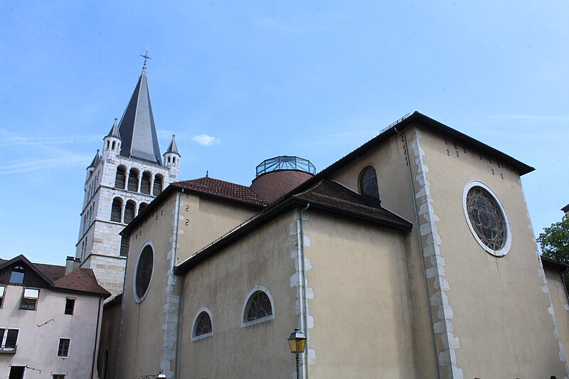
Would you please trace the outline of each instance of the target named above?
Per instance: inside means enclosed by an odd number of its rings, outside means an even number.
[[[569,203],[567,1],[2,1],[0,257],[75,254],[85,167],[149,47],[180,178],[317,170],[418,110],[536,171],[533,227]]]

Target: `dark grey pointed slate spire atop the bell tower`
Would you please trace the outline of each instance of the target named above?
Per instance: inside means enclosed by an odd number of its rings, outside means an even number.
[[[122,139],[120,155],[161,165],[160,146],[156,137],[146,69],[142,70],[129,105],[122,114],[119,133]]]

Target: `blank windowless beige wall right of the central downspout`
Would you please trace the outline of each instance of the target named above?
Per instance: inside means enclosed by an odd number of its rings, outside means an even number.
[[[310,212],[311,378],[421,378],[405,233]],[[334,236],[331,238],[331,236]]]

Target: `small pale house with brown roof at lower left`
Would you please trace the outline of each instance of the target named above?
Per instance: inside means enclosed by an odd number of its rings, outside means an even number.
[[[98,378],[103,300],[91,269],[0,260],[0,373],[6,379]]]

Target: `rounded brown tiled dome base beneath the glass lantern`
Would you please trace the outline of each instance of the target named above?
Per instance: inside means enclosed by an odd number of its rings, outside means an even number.
[[[304,171],[282,170],[262,174],[253,180],[251,189],[260,197],[273,202],[312,178]]]

